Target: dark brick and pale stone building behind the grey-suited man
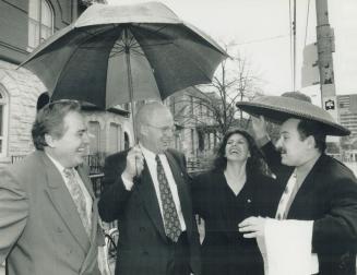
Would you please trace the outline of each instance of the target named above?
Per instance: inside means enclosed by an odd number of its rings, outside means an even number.
[[[31,128],[49,100],[39,79],[19,64],[93,2],[105,0],[0,0],[0,166],[34,150]],[[91,154],[121,151],[133,142],[129,111],[87,110],[86,121]]]

